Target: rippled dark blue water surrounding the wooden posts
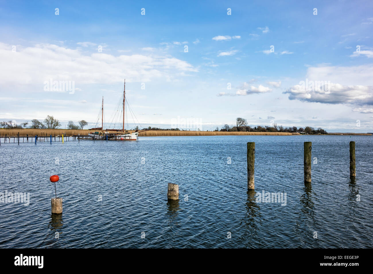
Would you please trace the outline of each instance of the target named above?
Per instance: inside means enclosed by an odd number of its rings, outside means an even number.
[[[317,157],[308,186],[304,141]],[[256,142],[255,192],[247,192],[247,142]],[[0,248],[372,248],[372,147],[372,136],[2,142],[0,192],[29,192],[30,204],[0,203]],[[169,182],[179,184],[179,201],[167,201]],[[286,205],[257,203],[263,190],[286,192]]]

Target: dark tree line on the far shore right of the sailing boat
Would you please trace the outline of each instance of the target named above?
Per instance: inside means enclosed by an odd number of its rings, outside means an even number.
[[[274,123],[271,126],[256,126],[251,127],[247,125],[247,120],[241,117],[236,118],[236,126],[229,126],[228,124],[225,124],[222,129],[225,129],[227,131],[253,131],[253,132],[303,132],[308,134],[327,134],[326,130],[322,129],[321,127],[314,129],[313,127],[306,126],[306,127],[300,127],[299,129],[296,126],[293,127],[283,127],[278,126],[276,123]],[[219,130],[219,128],[216,128],[216,130]]]

